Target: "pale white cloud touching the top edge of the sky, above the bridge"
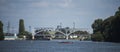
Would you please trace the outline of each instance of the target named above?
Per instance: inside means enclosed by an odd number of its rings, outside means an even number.
[[[39,1],[32,3],[33,7],[71,7],[72,0],[60,0],[57,2],[50,2],[50,1]]]

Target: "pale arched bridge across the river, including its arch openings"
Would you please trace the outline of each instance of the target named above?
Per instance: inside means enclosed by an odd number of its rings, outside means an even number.
[[[86,37],[90,37],[89,34],[74,34],[77,31],[82,31],[83,29],[80,28],[61,28],[61,29],[54,29],[54,28],[35,28],[33,33],[33,38],[38,36],[40,37],[47,37],[50,39],[53,38],[78,38],[78,39],[85,39]],[[85,29],[84,29],[85,30]],[[59,34],[56,34],[59,33]]]

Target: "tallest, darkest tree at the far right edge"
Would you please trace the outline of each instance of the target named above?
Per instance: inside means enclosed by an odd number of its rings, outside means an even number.
[[[111,33],[111,41],[120,42],[120,7],[118,11],[114,15],[114,19],[112,20],[112,33]]]

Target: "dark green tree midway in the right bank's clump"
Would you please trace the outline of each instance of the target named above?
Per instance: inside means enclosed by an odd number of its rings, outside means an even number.
[[[110,16],[107,19],[105,19],[103,21],[102,27],[103,27],[103,31],[102,34],[104,36],[105,41],[110,41],[111,37],[112,37],[112,21],[114,20],[114,16]]]

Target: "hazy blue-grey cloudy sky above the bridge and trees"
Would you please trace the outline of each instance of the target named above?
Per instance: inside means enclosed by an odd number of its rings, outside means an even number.
[[[62,27],[87,29],[92,33],[91,24],[95,19],[106,19],[120,7],[120,0],[0,0],[0,20],[7,32],[18,32],[19,19],[24,19],[25,28],[29,26]]]

